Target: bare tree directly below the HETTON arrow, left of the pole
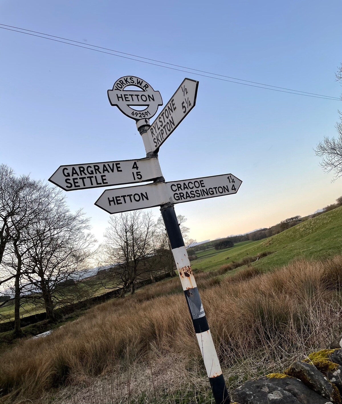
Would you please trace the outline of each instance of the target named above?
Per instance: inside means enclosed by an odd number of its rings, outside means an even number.
[[[151,212],[125,212],[110,217],[101,246],[101,272],[105,287],[120,287],[121,297],[131,289],[135,292],[137,280],[154,271],[156,256],[155,225]]]

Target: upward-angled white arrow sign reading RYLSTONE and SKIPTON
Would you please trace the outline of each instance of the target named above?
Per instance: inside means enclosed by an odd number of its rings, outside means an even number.
[[[171,135],[196,104],[198,81],[185,78],[147,131],[152,151]]]

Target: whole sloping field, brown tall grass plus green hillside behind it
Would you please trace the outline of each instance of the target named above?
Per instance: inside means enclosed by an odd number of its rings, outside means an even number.
[[[342,331],[341,240],[342,207],[192,261],[230,388]],[[256,255],[248,267],[225,270]],[[0,363],[4,403],[212,402],[178,278],[93,307],[44,339],[22,339]]]

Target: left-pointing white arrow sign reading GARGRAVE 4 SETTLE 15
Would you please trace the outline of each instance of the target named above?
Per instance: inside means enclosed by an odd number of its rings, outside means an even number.
[[[60,166],[49,181],[65,191],[151,181],[161,177],[158,159],[107,161]]]

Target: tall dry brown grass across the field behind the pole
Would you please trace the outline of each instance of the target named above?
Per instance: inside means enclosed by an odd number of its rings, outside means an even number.
[[[253,267],[226,278],[202,272],[196,280],[232,386],[287,366],[340,331],[342,256],[297,261],[267,274]],[[179,290],[178,279],[159,282],[103,303],[49,337],[22,341],[0,357],[2,400],[34,400],[54,387],[170,356],[194,371],[199,350]]]

